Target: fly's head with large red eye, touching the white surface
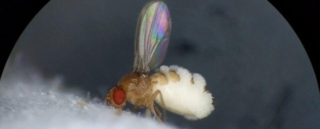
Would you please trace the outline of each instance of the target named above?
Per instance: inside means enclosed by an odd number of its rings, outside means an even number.
[[[122,109],[126,105],[126,91],[121,87],[115,86],[109,89],[105,101],[110,106]]]

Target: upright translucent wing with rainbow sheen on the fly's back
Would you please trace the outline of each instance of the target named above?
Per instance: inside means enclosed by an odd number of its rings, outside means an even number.
[[[149,72],[162,63],[170,33],[171,19],[165,3],[147,3],[137,23],[134,71]]]

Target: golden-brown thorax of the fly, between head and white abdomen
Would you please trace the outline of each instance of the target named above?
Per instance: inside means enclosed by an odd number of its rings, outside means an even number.
[[[146,106],[152,95],[150,78],[147,74],[129,73],[119,80],[118,85],[126,91],[127,100],[136,106]]]

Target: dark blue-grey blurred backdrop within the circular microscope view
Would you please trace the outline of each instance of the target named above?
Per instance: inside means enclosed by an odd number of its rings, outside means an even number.
[[[66,88],[103,98],[132,68],[137,19],[147,2],[51,0],[17,41],[13,64],[31,62],[46,78],[61,75]],[[181,128],[320,127],[312,65],[268,1],[165,2],[172,31],[162,65],[203,75],[216,104],[202,120],[169,113],[168,123]]]

